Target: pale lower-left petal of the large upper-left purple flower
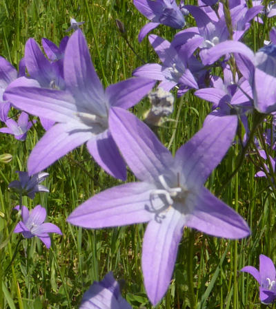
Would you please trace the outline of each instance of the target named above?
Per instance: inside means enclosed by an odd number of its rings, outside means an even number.
[[[49,129],[37,142],[28,158],[29,175],[46,169],[69,151],[92,138],[90,131],[74,128],[72,125],[58,124]]]

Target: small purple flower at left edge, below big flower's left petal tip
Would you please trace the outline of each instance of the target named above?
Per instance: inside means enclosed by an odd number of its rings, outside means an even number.
[[[33,122],[28,121],[28,118],[29,118],[28,114],[22,111],[17,122],[12,118],[8,118],[5,121],[7,127],[1,128],[0,132],[12,134],[14,138],[16,138],[17,140],[21,141],[26,140],[27,133],[29,129],[32,127],[32,123],[36,122],[36,120],[33,120]]]

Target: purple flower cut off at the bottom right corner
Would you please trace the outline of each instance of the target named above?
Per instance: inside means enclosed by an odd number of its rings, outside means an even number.
[[[262,303],[272,303],[276,299],[276,272],[275,266],[269,257],[259,255],[259,271],[253,266],[241,269],[250,273],[259,283],[259,299]]]

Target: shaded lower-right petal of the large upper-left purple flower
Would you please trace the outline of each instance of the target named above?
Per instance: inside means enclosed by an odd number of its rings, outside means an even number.
[[[108,130],[88,140],[86,146],[100,167],[113,177],[126,180],[126,163]]]

